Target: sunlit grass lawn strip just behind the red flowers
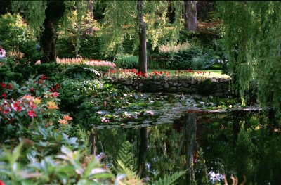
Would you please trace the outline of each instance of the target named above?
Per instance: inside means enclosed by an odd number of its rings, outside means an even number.
[[[154,70],[156,72],[160,72],[160,71],[164,72],[165,71],[165,70],[159,70],[159,69],[149,69],[148,73],[152,73],[152,71],[154,71]],[[183,72],[184,70],[181,70],[181,71]],[[203,75],[203,73],[197,74],[197,71],[198,72],[199,71],[204,72],[204,75]],[[170,72],[170,75],[174,75],[175,74],[174,72],[178,73],[178,70],[166,70],[166,72]],[[221,74],[221,70],[194,70],[194,72],[195,72],[194,75],[196,77],[204,76],[204,77],[229,78],[228,75]],[[209,75],[209,72],[210,72],[210,75]]]

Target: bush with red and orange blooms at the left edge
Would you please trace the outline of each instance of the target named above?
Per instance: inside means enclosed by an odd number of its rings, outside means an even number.
[[[48,82],[45,75],[29,79],[22,87],[15,82],[2,82],[0,88],[0,127],[4,131],[1,139],[20,136],[37,125],[67,125],[72,120],[69,115],[60,118],[60,84]]]

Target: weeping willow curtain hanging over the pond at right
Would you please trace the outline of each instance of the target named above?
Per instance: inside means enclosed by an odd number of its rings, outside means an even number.
[[[221,1],[218,8],[233,87],[245,98],[255,84],[261,106],[272,107],[280,117],[281,2]]]

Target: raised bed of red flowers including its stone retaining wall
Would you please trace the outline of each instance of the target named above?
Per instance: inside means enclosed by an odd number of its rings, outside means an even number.
[[[195,73],[203,76],[195,77]],[[171,92],[212,96],[232,95],[229,89],[230,79],[212,78],[209,75],[210,72],[195,72],[190,69],[178,70],[174,74],[166,70],[142,74],[137,72],[136,69],[119,69],[107,70],[104,77],[112,84],[123,84],[131,90],[141,92]]]

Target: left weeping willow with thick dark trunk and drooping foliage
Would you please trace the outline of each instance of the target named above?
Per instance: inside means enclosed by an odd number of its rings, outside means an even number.
[[[43,58],[41,62],[55,61],[55,39],[56,30],[63,21],[67,27],[67,18],[72,11],[77,11],[78,31],[81,34],[81,20],[86,15],[88,1],[13,1],[13,11],[24,13],[28,25],[34,34],[39,38]],[[79,39],[77,39],[77,52],[79,49]]]

